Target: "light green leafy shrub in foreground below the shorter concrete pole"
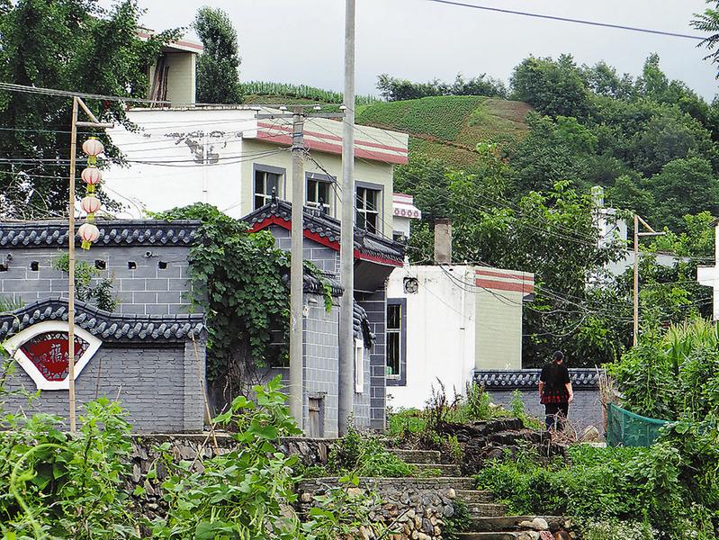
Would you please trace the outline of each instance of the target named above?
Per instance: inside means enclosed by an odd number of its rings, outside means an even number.
[[[198,458],[202,473],[193,472],[190,462],[175,464],[171,455],[164,456],[170,472],[162,482],[167,516],[152,524],[153,538],[301,537],[289,506],[296,500],[292,465],[297,459],[276,446],[279,437],[299,433],[281,386],[279,376],[266,387],[255,386],[256,401],[239,396],[214,419],[231,428],[238,445],[227,454]]]

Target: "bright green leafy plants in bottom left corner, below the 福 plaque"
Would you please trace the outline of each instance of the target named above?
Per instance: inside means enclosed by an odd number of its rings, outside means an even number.
[[[118,403],[85,404],[75,436],[47,414],[5,414],[0,432],[0,532],[7,538],[138,537],[124,477],[130,425]]]

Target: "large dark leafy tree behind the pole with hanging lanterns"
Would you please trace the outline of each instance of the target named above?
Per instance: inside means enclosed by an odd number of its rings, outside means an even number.
[[[0,80],[92,94],[147,97],[147,70],[169,31],[140,40],[136,0],[19,0],[0,12]],[[132,128],[124,105],[86,100],[103,121]],[[71,101],[0,92],[0,213],[32,219],[67,208]],[[80,130],[82,131],[82,130]],[[80,132],[78,139],[85,139]],[[106,154],[118,157],[109,139]]]

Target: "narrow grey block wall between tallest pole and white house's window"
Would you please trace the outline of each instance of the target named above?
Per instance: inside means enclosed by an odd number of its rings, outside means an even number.
[[[384,429],[387,407],[387,389],[385,386],[386,288],[382,287],[381,290],[373,294],[356,293],[355,299],[367,311],[367,318],[373,334],[376,336],[374,347],[370,351],[370,426],[373,429]]]

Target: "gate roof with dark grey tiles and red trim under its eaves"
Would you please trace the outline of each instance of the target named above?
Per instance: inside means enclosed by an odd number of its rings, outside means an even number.
[[[340,222],[320,211],[304,208],[304,237],[339,251]],[[243,218],[252,231],[279,225],[292,229],[292,204],[274,199]],[[385,266],[402,266],[404,247],[398,242],[355,227],[355,258]]]

